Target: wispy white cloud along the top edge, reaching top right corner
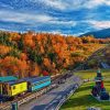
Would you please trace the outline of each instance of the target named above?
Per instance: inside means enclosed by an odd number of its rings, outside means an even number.
[[[34,0],[36,1],[36,0]],[[96,8],[98,6],[110,6],[110,0],[40,0],[44,4],[59,10],[76,10],[81,8]]]

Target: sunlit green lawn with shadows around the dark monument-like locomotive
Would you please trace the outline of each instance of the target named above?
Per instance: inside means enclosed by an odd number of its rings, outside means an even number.
[[[80,77],[85,78],[94,78],[96,76],[96,70],[82,70],[76,73]],[[102,69],[102,75],[105,77],[110,77],[110,69]],[[87,110],[88,107],[99,107],[102,110],[110,110],[110,101],[99,102],[92,96],[90,96],[90,91],[95,82],[86,82],[84,84],[72,97],[67,100],[65,105],[61,108],[61,110]],[[105,87],[110,92],[110,80],[105,81]]]

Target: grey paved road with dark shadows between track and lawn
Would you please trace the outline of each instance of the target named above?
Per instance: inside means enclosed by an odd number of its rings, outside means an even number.
[[[20,110],[55,110],[58,102],[67,96],[80,79],[77,76],[72,76],[66,79],[65,84],[61,84],[58,88],[51,90],[38,99],[34,99],[25,105],[22,105]]]

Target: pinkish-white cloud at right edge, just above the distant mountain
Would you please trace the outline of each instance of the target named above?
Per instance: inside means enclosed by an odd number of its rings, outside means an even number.
[[[88,21],[95,29],[108,29],[110,28],[110,21]]]

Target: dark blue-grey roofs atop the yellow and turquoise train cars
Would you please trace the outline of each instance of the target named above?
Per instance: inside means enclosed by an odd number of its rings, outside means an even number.
[[[19,80],[13,80],[13,81],[8,81],[7,84],[9,85],[15,85],[15,84],[20,84],[20,82],[24,82],[24,81],[29,81],[31,84],[36,84],[40,80],[45,80],[47,78],[51,78],[50,76],[43,76],[43,77],[28,77],[28,78],[22,78],[22,79],[19,79]]]

